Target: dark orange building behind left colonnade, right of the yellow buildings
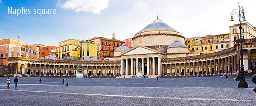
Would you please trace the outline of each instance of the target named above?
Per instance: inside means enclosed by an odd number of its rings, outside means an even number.
[[[116,40],[115,33],[112,34],[112,39],[104,38],[104,37],[94,37],[90,40],[94,39],[100,39],[102,48],[100,50],[100,59],[103,60],[103,58],[109,58],[114,56],[114,51],[117,47],[121,46],[124,42],[120,40]]]

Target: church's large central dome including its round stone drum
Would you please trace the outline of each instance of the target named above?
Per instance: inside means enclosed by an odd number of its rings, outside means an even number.
[[[175,39],[184,43],[185,37],[182,36],[182,33],[157,17],[151,24],[136,33],[132,40],[134,42],[134,47],[142,45],[158,50],[160,46],[160,51],[167,53],[167,47],[170,43],[174,42]]]

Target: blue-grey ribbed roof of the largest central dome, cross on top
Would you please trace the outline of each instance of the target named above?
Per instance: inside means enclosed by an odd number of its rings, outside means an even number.
[[[164,23],[158,17],[151,24],[147,25],[145,28],[140,30],[138,33],[147,32],[147,31],[174,31],[178,32],[176,29],[172,28],[170,25]]]

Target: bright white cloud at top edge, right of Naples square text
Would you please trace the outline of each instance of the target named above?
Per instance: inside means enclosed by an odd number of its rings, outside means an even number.
[[[61,8],[72,8],[76,11],[92,11],[100,14],[100,11],[108,7],[109,0],[67,0]],[[57,5],[60,4],[58,1]]]

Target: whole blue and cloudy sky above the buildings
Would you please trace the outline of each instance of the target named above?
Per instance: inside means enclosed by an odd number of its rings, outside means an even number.
[[[238,21],[230,12],[244,6],[246,22],[256,26],[256,0],[0,0],[0,39],[31,45],[58,46],[66,39],[95,36],[124,40],[157,18],[185,37],[229,33]],[[31,14],[8,14],[8,7],[31,9]],[[56,9],[56,14],[34,14],[33,9]]]

